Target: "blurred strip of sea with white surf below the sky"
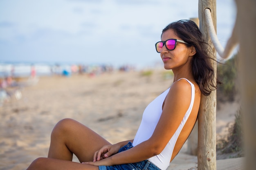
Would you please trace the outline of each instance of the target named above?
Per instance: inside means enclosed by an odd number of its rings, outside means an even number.
[[[86,62],[29,62],[29,61],[0,61],[0,78],[4,77],[29,77],[31,70],[34,69],[37,76],[61,75],[63,72],[71,75],[72,73],[102,73],[111,71],[140,71],[143,69],[159,68],[161,62],[152,62],[151,64],[104,64],[104,63],[86,63]]]

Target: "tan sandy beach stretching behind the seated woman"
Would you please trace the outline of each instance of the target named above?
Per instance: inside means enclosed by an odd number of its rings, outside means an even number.
[[[133,139],[145,107],[172,84],[172,77],[166,73],[54,75],[38,77],[36,84],[20,87],[20,99],[12,96],[0,106],[0,170],[25,170],[37,157],[47,157],[52,128],[63,118],[76,119],[111,143]],[[220,104],[216,139],[227,136],[238,107],[237,101]],[[197,157],[188,155],[186,148],[187,143],[168,170],[197,169]],[[233,165],[230,170],[240,170],[234,168],[238,162],[243,158],[218,160],[217,169],[228,170]]]

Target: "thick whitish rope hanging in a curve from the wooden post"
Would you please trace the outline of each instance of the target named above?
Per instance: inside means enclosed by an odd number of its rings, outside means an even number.
[[[234,50],[234,48],[238,44],[238,39],[236,37],[236,26],[234,26],[232,35],[227,42],[226,48],[223,49],[222,45],[220,44],[220,41],[218,40],[216,31],[213,26],[210,9],[208,9],[208,8],[204,9],[204,15],[205,15],[208,32],[211,37],[213,46],[215,47],[215,49],[218,52],[218,54],[220,55],[220,57],[222,57],[223,59],[227,59],[230,56],[231,52]]]

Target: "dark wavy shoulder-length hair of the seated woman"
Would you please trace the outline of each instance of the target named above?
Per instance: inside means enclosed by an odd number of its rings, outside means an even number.
[[[211,64],[211,49],[209,44],[204,42],[204,37],[197,24],[191,20],[179,20],[168,24],[162,31],[162,34],[168,29],[172,29],[178,37],[187,42],[187,47],[194,46],[196,53],[192,59],[192,72],[200,91],[204,95],[210,95],[211,91],[216,90],[218,80],[215,82],[214,69]],[[162,37],[162,35],[161,35]]]

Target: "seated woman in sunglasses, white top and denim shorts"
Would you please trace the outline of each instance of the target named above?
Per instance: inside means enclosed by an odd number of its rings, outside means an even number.
[[[72,119],[56,124],[48,158],[38,158],[27,170],[165,170],[182,148],[197,120],[200,96],[216,89],[214,72],[198,26],[173,22],[155,44],[173,84],[144,110],[135,139],[110,144]],[[75,154],[82,163],[72,162]]]

